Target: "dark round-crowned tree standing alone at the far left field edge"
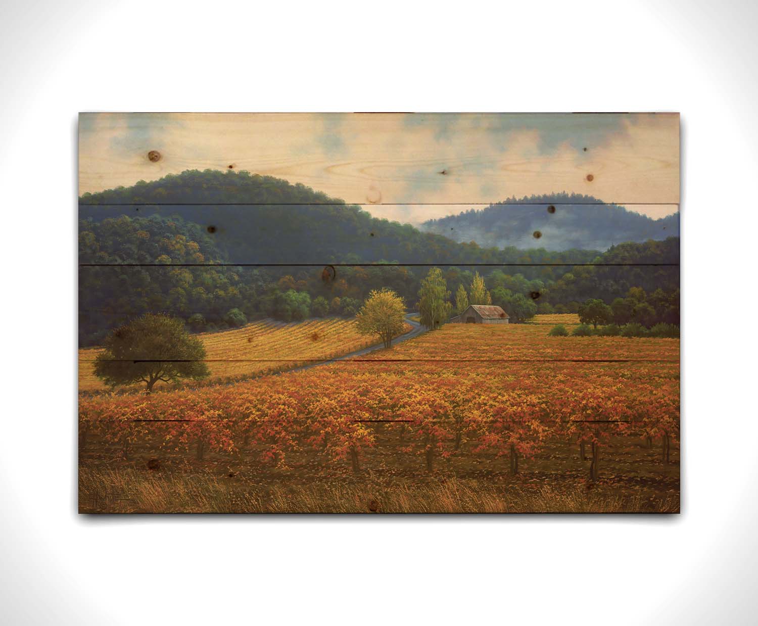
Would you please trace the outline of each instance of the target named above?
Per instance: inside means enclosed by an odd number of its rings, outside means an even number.
[[[202,361],[202,342],[170,315],[146,313],[113,330],[103,347],[95,360],[95,374],[111,387],[142,381],[151,393],[158,380],[199,380],[210,374]]]

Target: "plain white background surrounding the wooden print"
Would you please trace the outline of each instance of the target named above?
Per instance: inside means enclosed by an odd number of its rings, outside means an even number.
[[[4,2],[8,624],[748,624],[756,5]],[[77,111],[681,111],[683,513],[75,513]]]

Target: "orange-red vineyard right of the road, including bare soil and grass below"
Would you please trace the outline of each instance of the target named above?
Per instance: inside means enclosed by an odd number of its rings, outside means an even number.
[[[678,511],[679,340],[547,330],[446,324],[304,371],[82,396],[82,510]]]

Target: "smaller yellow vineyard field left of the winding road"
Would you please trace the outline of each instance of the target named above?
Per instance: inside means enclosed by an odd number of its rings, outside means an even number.
[[[406,330],[410,330],[406,325]],[[375,337],[358,333],[353,320],[314,319],[286,324],[257,321],[235,330],[196,335],[205,346],[210,380],[240,379],[281,371],[349,354],[377,343]],[[98,348],[79,351],[79,390],[107,387],[95,375]],[[162,383],[156,385],[160,389]],[[138,391],[143,385],[134,386]]]

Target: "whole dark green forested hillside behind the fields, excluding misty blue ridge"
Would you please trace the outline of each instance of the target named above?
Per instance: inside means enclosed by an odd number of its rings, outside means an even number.
[[[190,201],[208,204],[182,204]],[[478,270],[493,297],[538,292],[536,302],[545,309],[575,310],[588,298],[610,302],[631,287],[678,288],[678,267],[596,265],[677,264],[676,237],[622,243],[602,253],[483,248],[378,220],[305,186],[246,172],[189,171],[85,194],[79,238],[82,346],[99,343],[111,328],[148,311],[177,315],[192,330],[218,330],[264,316],[352,316],[381,287],[399,293],[410,309],[421,278],[435,264],[453,293],[471,284]],[[324,280],[324,265],[339,263],[375,265],[337,265],[336,275]]]

